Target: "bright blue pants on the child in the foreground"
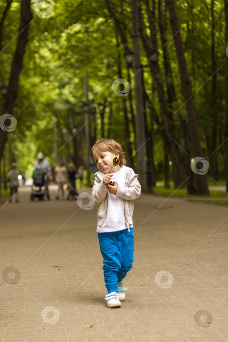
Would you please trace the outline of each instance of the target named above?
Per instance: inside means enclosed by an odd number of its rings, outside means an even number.
[[[103,261],[104,281],[108,293],[118,292],[118,282],[132,268],[134,252],[133,228],[118,232],[98,233]]]

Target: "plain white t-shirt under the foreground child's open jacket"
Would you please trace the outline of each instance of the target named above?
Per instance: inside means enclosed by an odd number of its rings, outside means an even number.
[[[124,187],[126,170],[127,168],[123,165],[120,171],[112,172],[113,176],[111,180],[114,182],[117,181],[121,187]],[[97,226],[97,233],[116,232],[127,228],[125,223],[124,199],[112,195],[109,192],[107,192],[107,195],[108,207],[106,216],[103,225]]]

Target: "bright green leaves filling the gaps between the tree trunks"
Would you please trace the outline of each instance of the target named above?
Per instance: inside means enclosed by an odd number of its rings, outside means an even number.
[[[5,2],[0,3],[0,16],[3,13]],[[3,23],[2,51],[0,53],[1,84],[7,85],[17,41],[17,30],[20,21],[20,2],[13,1]],[[36,9],[36,3],[46,3],[49,6]],[[150,1],[153,10],[154,1]],[[153,4],[152,4],[153,2]],[[159,65],[161,78],[166,91],[166,72],[164,67],[164,51],[159,31],[158,2],[155,2],[155,18],[159,49]],[[173,85],[176,100],[173,102],[174,128],[179,146],[183,147],[179,134],[177,112],[187,122],[187,113],[182,96],[180,74],[177,64],[176,51],[172,39],[165,1],[161,0],[161,8],[166,27],[166,47],[169,54],[172,70]],[[67,145],[70,149],[72,161],[84,163],[84,78],[85,67],[89,79],[89,112],[91,128],[91,144],[93,140],[102,136],[102,116],[99,103],[104,107],[104,136],[118,140],[126,150],[124,133],[124,100],[126,100],[129,119],[130,140],[135,158],[135,136],[130,112],[129,96],[116,95],[112,90],[114,80],[119,78],[119,67],[122,77],[128,79],[127,65],[124,59],[124,45],[121,35],[115,24],[119,21],[128,47],[132,48],[131,41],[131,13],[127,2],[118,0],[109,1],[115,14],[110,13],[104,2],[91,0],[59,0],[33,1],[33,20],[29,29],[29,41],[23,61],[20,76],[18,98],[15,107],[17,128],[8,134],[5,158],[7,166],[16,160],[20,171],[31,172],[37,153],[42,151],[55,164],[53,150],[53,123],[57,120],[58,157],[67,162]],[[150,28],[144,1],[140,1],[145,28],[148,37]],[[213,129],[212,96],[211,96],[211,1],[210,0],[176,0],[177,15],[181,25],[181,36],[185,48],[188,72],[192,83],[194,101],[197,112],[198,128],[201,144],[206,158],[209,160],[211,149],[208,144]],[[215,56],[217,71],[217,143],[218,148],[224,141],[224,62],[225,49],[225,16],[223,1],[215,1]],[[34,10],[35,9],[35,10]],[[121,43],[122,42],[122,43]],[[141,63],[147,64],[145,51],[140,42]],[[134,98],[133,73],[130,70],[131,94]],[[146,93],[161,120],[158,97],[154,91],[153,81],[149,69],[144,68],[144,83]],[[0,99],[2,104],[2,98]],[[135,110],[134,101],[132,101]],[[149,129],[153,131],[154,162],[157,179],[163,178],[164,151],[160,128],[155,120],[151,121],[150,107],[146,102],[145,111]],[[77,134],[75,134],[77,129]],[[66,131],[65,131],[66,130]],[[189,141],[188,127],[187,140]],[[74,150],[72,136],[77,137],[78,150]],[[63,147],[64,145],[64,147]],[[14,153],[9,151],[13,148]],[[74,159],[75,153],[78,153]],[[180,148],[183,155],[183,150]],[[127,156],[129,157],[129,156]],[[190,155],[190,157],[195,157]],[[218,150],[219,175],[224,176],[224,147]],[[77,167],[79,165],[76,165]]]

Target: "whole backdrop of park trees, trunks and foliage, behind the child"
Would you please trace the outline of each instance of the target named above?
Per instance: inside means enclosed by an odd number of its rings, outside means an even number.
[[[227,10],[226,0],[1,1],[0,107],[17,119],[0,128],[1,182],[15,161],[31,176],[40,151],[94,171],[88,149],[101,137],[122,144],[146,192],[162,181],[207,194],[208,177],[226,180]],[[205,175],[190,169],[197,156]]]

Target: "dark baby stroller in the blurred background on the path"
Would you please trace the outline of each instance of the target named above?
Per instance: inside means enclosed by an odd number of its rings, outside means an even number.
[[[38,198],[43,201],[44,197],[49,200],[50,197],[47,189],[46,174],[41,169],[35,169],[32,178],[33,184],[30,200],[34,201],[35,198]]]

